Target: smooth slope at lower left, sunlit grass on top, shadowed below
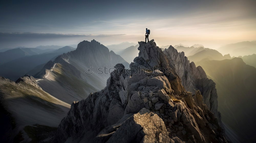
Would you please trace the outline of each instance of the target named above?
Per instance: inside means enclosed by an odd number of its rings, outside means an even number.
[[[0,89],[3,104],[17,125],[38,123],[57,126],[70,108],[69,104],[25,82],[1,81]]]

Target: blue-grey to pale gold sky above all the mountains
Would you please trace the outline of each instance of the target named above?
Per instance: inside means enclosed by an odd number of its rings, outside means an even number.
[[[256,40],[255,0],[1,1],[0,49],[144,41],[158,46]]]

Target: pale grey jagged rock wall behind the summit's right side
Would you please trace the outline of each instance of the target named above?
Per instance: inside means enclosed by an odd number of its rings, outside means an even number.
[[[175,67],[177,75],[181,78],[182,85],[186,91],[195,94],[200,90],[204,97],[204,103],[216,117],[221,118],[218,113],[217,90],[215,83],[208,79],[201,66],[196,67],[194,62],[189,63],[184,52],[178,52],[173,46],[163,51],[170,63]],[[196,89],[196,90],[195,90]]]

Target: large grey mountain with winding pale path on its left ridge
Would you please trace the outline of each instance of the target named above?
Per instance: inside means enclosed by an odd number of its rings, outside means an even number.
[[[71,104],[73,101],[87,98],[90,92],[103,89],[109,74],[97,74],[98,69],[105,67],[108,71],[117,63],[129,67],[129,64],[120,55],[109,51],[99,42],[95,40],[82,41],[76,50],[63,53],[54,61],[45,64],[34,77],[40,78],[38,84],[44,91]],[[84,72],[87,72],[88,69],[93,74],[85,74]]]

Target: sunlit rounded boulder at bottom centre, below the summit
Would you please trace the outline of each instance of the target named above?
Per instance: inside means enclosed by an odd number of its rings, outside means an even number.
[[[106,142],[169,143],[168,132],[163,125],[163,120],[157,114],[143,108],[127,119]]]

